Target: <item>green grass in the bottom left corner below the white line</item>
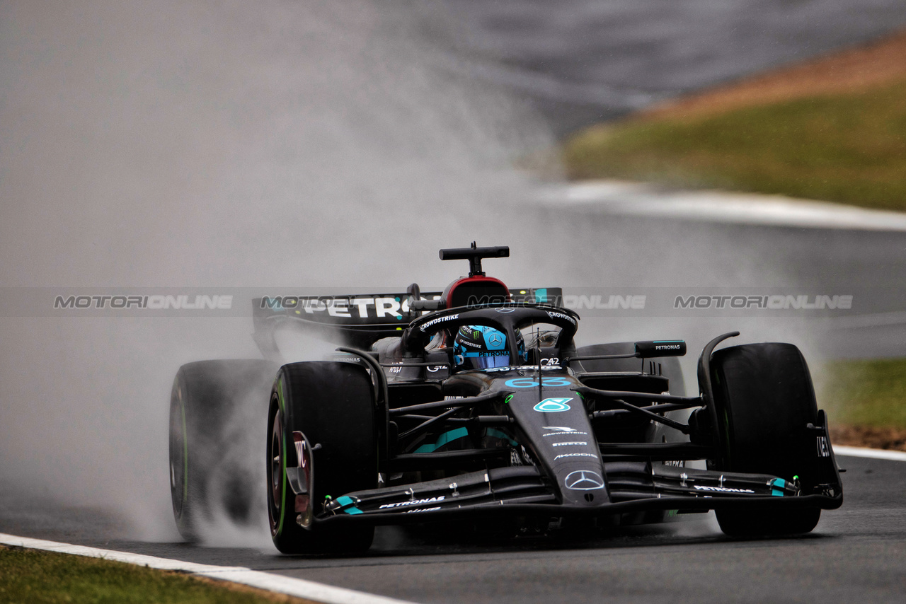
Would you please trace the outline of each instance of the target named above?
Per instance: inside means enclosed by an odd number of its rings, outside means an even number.
[[[0,547],[0,602],[3,603],[263,604],[274,601],[174,572],[50,551]]]

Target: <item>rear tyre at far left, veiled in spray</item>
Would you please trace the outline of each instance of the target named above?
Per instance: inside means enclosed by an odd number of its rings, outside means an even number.
[[[264,417],[276,367],[265,360],[203,360],[179,368],[170,394],[169,476],[179,534],[198,541],[217,511],[247,523],[259,468],[247,463],[248,422]]]

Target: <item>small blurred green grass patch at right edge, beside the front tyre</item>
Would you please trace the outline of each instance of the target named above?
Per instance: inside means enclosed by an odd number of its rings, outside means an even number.
[[[834,423],[906,428],[906,359],[841,360],[824,369],[820,400]]]

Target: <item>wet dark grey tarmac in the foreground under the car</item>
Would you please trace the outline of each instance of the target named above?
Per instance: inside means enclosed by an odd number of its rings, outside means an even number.
[[[0,530],[178,560],[244,566],[420,602],[825,601],[900,602],[906,582],[906,468],[840,457],[844,503],[803,537],[732,541],[710,515],[614,530],[589,540],[426,541],[384,528],[359,558],[130,542],[113,519],[8,492]],[[693,516],[693,518],[699,518]]]

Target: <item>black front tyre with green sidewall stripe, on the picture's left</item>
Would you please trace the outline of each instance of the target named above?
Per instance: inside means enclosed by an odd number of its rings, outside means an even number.
[[[338,553],[371,547],[373,526],[325,526],[312,519],[323,511],[328,496],[377,486],[374,427],[371,377],[361,366],[311,361],[280,369],[267,422],[267,513],[279,551]],[[286,477],[287,465],[297,463],[294,431],[319,446],[303,450],[304,468],[313,473],[312,493],[304,495],[294,494]]]

